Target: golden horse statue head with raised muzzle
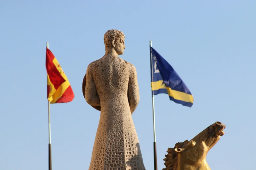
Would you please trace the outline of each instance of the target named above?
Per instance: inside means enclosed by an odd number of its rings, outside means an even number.
[[[163,170],[211,170],[206,162],[206,155],[210,149],[224,135],[226,125],[216,121],[192,140],[178,142],[174,148],[168,148],[165,155]]]

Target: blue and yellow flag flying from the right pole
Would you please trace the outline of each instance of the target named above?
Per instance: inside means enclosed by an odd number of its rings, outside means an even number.
[[[156,50],[150,47],[150,51],[152,95],[166,93],[175,103],[191,107],[194,98],[185,83]]]

